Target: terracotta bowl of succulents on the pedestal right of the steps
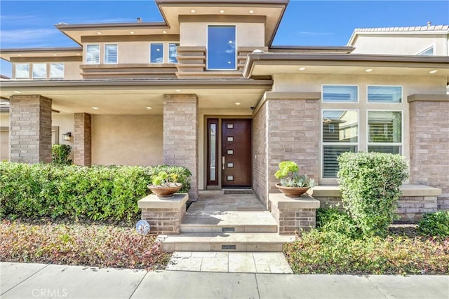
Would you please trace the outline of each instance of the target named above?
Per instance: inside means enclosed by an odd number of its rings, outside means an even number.
[[[286,197],[298,198],[315,185],[314,179],[309,178],[307,174],[300,175],[299,170],[300,167],[293,161],[279,163],[279,169],[274,176],[281,182],[276,183],[276,187]]]

